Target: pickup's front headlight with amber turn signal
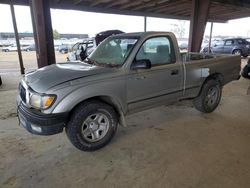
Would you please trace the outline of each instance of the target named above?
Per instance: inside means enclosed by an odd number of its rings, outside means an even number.
[[[30,96],[30,105],[36,109],[47,109],[55,101],[55,95],[39,95],[32,93]]]

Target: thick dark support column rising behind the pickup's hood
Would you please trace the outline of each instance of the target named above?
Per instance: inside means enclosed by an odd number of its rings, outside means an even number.
[[[30,0],[38,68],[55,63],[49,1]]]

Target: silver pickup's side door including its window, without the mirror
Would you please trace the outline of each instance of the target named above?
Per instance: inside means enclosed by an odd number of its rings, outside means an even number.
[[[131,70],[127,81],[128,110],[139,111],[178,100],[182,93],[181,63],[176,62],[171,38],[147,39],[135,61],[147,59],[150,69]]]

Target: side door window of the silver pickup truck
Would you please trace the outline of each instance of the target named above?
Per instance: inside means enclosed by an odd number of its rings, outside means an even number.
[[[154,37],[146,40],[136,55],[136,60],[148,59],[152,66],[175,62],[173,44],[168,37]]]

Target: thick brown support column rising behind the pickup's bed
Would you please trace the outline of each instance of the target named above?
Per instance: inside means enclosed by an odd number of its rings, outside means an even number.
[[[199,52],[206,28],[210,0],[192,0],[192,12],[189,29],[189,52]]]

